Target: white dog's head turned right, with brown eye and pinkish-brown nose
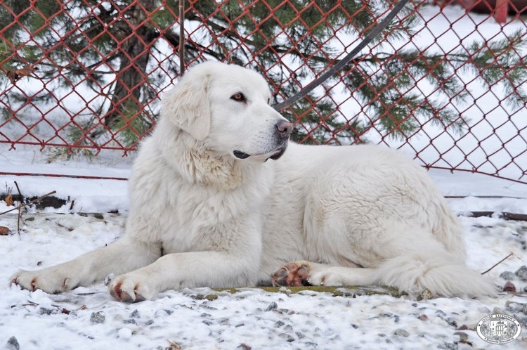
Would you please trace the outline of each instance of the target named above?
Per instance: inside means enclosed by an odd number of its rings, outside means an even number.
[[[207,148],[238,160],[278,159],[292,124],[271,105],[258,73],[207,62],[192,67],[163,98],[163,117]]]

